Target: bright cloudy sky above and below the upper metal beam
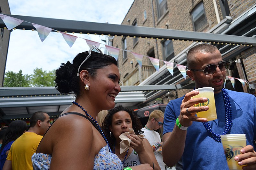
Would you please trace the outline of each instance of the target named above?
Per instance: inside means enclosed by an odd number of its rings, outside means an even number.
[[[8,0],[13,15],[58,18],[88,22],[121,24],[133,0]],[[38,33],[31,30],[11,32],[5,72],[22,70],[32,74],[33,69],[53,70],[60,63],[71,62],[77,53],[89,49],[82,38],[104,43],[105,36],[74,34],[78,37],[72,48],[60,33],[51,32],[41,42]]]

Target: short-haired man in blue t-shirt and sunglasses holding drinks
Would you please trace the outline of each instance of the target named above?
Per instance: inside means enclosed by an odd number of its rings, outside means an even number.
[[[246,134],[247,146],[239,153],[230,151],[240,166],[256,169],[256,98],[252,94],[223,89],[229,62],[223,61],[220,51],[211,44],[199,44],[188,51],[187,74],[195,81],[195,89],[214,88],[217,119],[196,116],[208,106],[193,107],[208,99],[195,98],[199,92],[188,92],[169,102],[164,114],[163,160],[173,166],[182,156],[183,169],[228,170],[221,144],[221,134]],[[230,157],[229,157],[230,158]]]

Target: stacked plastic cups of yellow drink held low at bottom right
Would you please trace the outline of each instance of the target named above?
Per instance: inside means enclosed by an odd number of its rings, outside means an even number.
[[[228,162],[228,168],[230,170],[242,169],[242,166],[238,165],[234,158],[235,156],[241,154],[240,150],[246,146],[246,135],[220,135],[220,138]]]

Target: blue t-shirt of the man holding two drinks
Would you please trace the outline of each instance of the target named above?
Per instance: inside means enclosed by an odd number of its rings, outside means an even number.
[[[230,134],[246,134],[246,144],[252,145],[255,150],[256,139],[256,98],[252,94],[228,92],[231,108],[232,121]],[[184,96],[172,100],[166,106],[164,112],[164,131],[172,132],[177,117],[180,115],[180,105]],[[222,92],[214,94],[217,119],[210,121],[210,127],[216,134],[224,132],[225,128],[225,105]],[[169,151],[172,152],[172,151]],[[193,122],[187,130],[185,149],[182,156],[183,169],[223,169],[228,170],[226,157],[221,143],[210,137],[203,123]]]

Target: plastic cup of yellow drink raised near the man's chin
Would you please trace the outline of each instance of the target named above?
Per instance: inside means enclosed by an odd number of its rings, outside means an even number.
[[[203,112],[196,112],[196,115],[198,117],[202,117],[202,118],[207,118],[207,121],[212,121],[217,119],[217,114],[216,114],[216,108],[215,108],[215,100],[214,100],[214,93],[213,93],[213,88],[212,87],[202,87],[199,89],[196,89],[199,91],[199,94],[197,94],[196,96],[191,97],[193,98],[198,98],[198,97],[206,97],[208,98],[208,101],[204,102],[204,103],[198,103],[195,104],[195,107],[199,107],[199,106],[209,106],[209,110],[203,111]],[[196,91],[193,90],[193,91]]]

